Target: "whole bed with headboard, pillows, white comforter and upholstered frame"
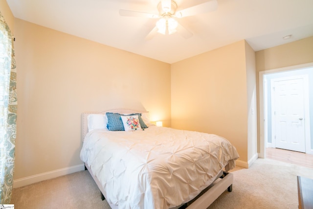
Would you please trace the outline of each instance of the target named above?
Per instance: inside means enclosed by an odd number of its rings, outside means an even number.
[[[146,111],[115,109],[83,113],[82,139],[81,160],[112,209],[201,209],[232,190],[227,171],[239,155],[217,135],[158,127]]]

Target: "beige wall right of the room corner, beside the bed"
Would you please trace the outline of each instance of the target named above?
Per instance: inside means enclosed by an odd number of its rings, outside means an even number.
[[[244,162],[248,161],[247,105],[251,105],[246,72],[251,48],[246,55],[246,45],[243,40],[171,67],[172,127],[220,135],[237,148]]]

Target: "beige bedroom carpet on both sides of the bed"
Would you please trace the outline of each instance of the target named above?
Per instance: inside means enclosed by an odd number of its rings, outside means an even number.
[[[296,176],[313,179],[313,169],[258,159],[249,169],[236,167],[233,191],[208,209],[297,209]],[[13,189],[15,209],[110,209],[88,171]]]

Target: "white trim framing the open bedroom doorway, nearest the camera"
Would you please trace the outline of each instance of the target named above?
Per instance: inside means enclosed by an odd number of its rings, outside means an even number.
[[[289,67],[284,67],[284,68],[278,68],[278,69],[271,69],[271,70],[263,70],[259,71],[259,136],[260,136],[260,153],[258,153],[258,156],[260,158],[265,158],[266,157],[266,142],[267,137],[265,136],[265,128],[267,127],[268,123],[268,118],[265,116],[265,110],[267,108],[264,108],[264,75],[266,74],[271,74],[274,72],[283,72],[283,71],[290,71],[290,70],[300,70],[300,69],[305,69],[305,68],[312,68],[313,67],[313,62],[312,63],[306,63],[306,64],[301,64],[301,65],[295,65],[295,66],[289,66]],[[310,131],[310,129],[309,129]],[[311,147],[311,141],[310,141],[310,146]],[[307,153],[313,154],[313,149],[307,150]]]

